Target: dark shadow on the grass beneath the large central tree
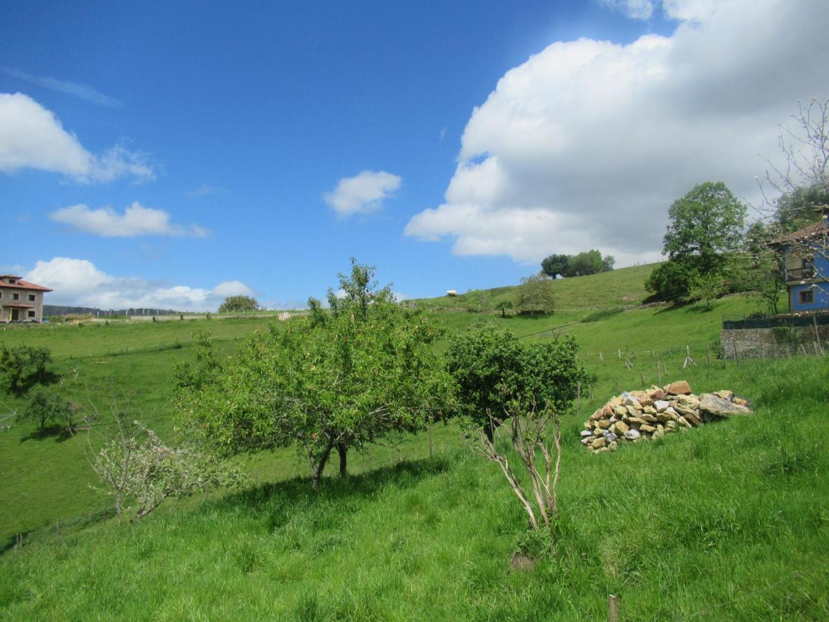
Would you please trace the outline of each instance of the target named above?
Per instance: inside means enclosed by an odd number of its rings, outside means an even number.
[[[451,455],[407,460],[344,478],[339,475],[323,477],[318,488],[313,487],[311,478],[296,477],[228,494],[216,500],[216,506],[219,508],[244,507],[252,513],[260,513],[271,511],[277,500],[284,507],[295,508],[319,501],[332,502],[347,498],[366,498],[389,486],[403,488],[421,479],[445,473],[452,467],[452,464]]]

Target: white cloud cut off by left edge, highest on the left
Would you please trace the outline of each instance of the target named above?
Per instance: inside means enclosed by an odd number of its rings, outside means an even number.
[[[55,114],[22,93],[0,93],[0,172],[22,168],[63,173],[78,182],[110,182],[119,177],[152,179],[140,153],[116,145],[101,155],[87,151]]]

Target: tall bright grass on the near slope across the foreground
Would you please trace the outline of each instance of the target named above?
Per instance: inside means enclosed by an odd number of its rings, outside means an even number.
[[[829,360],[749,362],[757,413],[592,455],[565,434],[555,547],[460,447],[349,479],[267,484],[0,557],[0,617],[829,619]],[[566,431],[566,430],[565,430]]]

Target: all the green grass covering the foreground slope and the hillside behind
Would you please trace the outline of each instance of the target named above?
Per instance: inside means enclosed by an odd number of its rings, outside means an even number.
[[[559,300],[584,309],[642,299],[646,269],[565,279],[556,285],[584,298]],[[623,284],[602,281],[613,291],[603,296],[594,291],[599,277]],[[30,439],[31,430],[12,425],[0,432],[0,537],[35,532],[21,550],[0,555],[0,618],[600,620],[612,593],[622,620],[829,619],[829,451],[821,435],[829,359],[709,364],[706,346],[715,353],[721,318],[756,309],[733,296],[710,311],[604,317],[435,311],[450,333],[485,318],[519,338],[572,334],[598,377],[580,411],[565,418],[555,548],[531,569],[510,564],[526,532],[516,499],[453,423],[432,430],[433,457],[425,434],[377,447],[350,461],[350,478],[328,477],[318,493],[307,465],[284,449],[246,460],[256,484],[240,493],[165,503],[138,525],[93,520],[60,537],[58,519],[107,503],[87,485],[81,439]],[[585,318],[592,321],[576,323]],[[60,355],[55,371],[73,378],[73,399],[104,409],[113,396],[128,398],[136,417],[164,435],[173,424],[172,365],[191,356],[193,328],[211,328],[231,356],[235,339],[265,323],[39,327],[0,338],[51,347]],[[686,347],[697,366],[682,370]],[[657,382],[657,354],[663,383],[730,388],[756,414],[618,452],[582,449],[586,415],[617,385]]]

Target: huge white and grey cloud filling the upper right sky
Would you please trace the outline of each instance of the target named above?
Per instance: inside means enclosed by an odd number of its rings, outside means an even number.
[[[535,263],[590,247],[652,260],[696,183],[750,202],[797,100],[827,95],[819,0],[666,0],[671,36],[556,42],[507,72],[463,132],[444,204],[409,236]],[[793,36],[792,33],[797,33]],[[824,92],[820,92],[823,90]]]

